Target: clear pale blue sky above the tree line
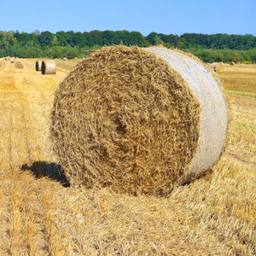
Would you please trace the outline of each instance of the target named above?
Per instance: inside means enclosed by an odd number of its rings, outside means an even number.
[[[256,36],[256,0],[0,0],[0,31]]]

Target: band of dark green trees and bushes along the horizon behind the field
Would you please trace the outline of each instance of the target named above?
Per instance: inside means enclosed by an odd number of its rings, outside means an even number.
[[[151,32],[144,37],[140,32],[49,31],[3,32],[0,31],[0,57],[11,55],[20,58],[74,58],[88,55],[90,49],[105,45],[125,44],[148,47],[164,45],[189,51],[202,61],[251,61],[256,62],[256,37],[253,35],[205,35],[184,33],[181,36]]]

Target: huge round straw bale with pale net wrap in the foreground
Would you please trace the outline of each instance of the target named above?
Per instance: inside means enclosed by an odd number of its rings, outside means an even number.
[[[72,184],[168,195],[218,160],[227,122],[201,61],[120,45],[92,53],[61,82],[50,130]]]

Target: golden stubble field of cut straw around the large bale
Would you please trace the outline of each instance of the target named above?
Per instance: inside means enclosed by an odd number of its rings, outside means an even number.
[[[55,75],[0,68],[0,255],[255,255],[256,65],[225,64],[229,143],[206,177],[167,198],[77,189],[49,141]]]

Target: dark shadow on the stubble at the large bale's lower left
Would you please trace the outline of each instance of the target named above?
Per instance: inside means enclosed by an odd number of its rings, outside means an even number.
[[[55,163],[48,163],[46,161],[36,161],[33,162],[31,166],[25,164],[21,166],[21,170],[29,170],[37,178],[49,177],[52,180],[55,180],[63,187],[69,187],[70,183],[67,181],[67,177],[61,167],[61,165]]]

